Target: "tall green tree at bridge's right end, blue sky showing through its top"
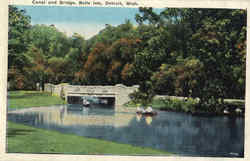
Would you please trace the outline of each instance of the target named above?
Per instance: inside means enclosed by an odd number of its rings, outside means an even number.
[[[136,20],[140,25],[138,32],[143,48],[136,53],[132,73],[138,79],[139,91],[145,95],[144,99],[150,102],[155,94],[153,89],[156,89],[151,77],[162,64],[174,64],[178,57],[184,57],[183,53],[186,53],[187,47],[183,45],[185,44],[183,41],[187,36],[182,36],[182,41],[177,39],[178,35],[186,35],[184,28],[181,27],[183,24],[178,23],[180,21],[178,16],[176,19],[173,16],[168,17],[170,12],[157,15],[152,8],[140,8],[139,11]]]

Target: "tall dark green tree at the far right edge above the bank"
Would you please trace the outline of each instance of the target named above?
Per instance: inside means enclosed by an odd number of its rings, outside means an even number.
[[[206,18],[192,35],[190,46],[190,51],[205,67],[206,74],[200,81],[200,99],[202,104],[220,106],[224,98],[244,95],[244,91],[239,93],[232,85],[239,84],[237,69],[245,70],[237,44],[239,38],[241,42],[246,40],[246,11],[202,10],[200,14]]]

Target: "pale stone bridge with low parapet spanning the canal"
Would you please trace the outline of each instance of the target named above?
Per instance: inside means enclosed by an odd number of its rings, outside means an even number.
[[[122,84],[115,86],[74,86],[45,84],[45,91],[54,95],[65,97],[68,102],[70,96],[94,96],[102,98],[114,98],[115,105],[123,105],[130,98],[129,94],[138,89],[138,86],[127,87]]]

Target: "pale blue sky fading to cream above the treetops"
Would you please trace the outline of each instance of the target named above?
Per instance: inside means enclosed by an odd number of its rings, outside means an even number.
[[[71,36],[81,34],[85,39],[98,34],[105,24],[117,26],[130,20],[137,25],[137,8],[111,7],[62,7],[62,6],[17,6],[31,16],[31,24],[54,24],[59,31]],[[157,9],[157,12],[160,10]]]

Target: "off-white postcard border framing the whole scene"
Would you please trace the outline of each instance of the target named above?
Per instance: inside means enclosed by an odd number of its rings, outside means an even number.
[[[129,161],[129,160],[143,160],[143,161],[230,161],[230,160],[250,160],[250,146],[249,146],[249,136],[250,136],[250,109],[248,109],[249,98],[250,98],[250,89],[249,81],[250,80],[250,64],[249,64],[249,41],[247,41],[247,70],[246,70],[246,111],[245,111],[245,155],[244,158],[217,158],[217,157],[164,157],[164,156],[109,156],[109,155],[57,155],[57,154],[10,154],[6,153],[6,105],[7,105],[7,39],[8,39],[8,3],[15,5],[33,5],[33,0],[9,0],[0,1],[0,102],[1,102],[1,125],[0,125],[0,161],[110,161],[110,160],[119,160],[119,161]],[[74,1],[74,0],[68,0]],[[79,1],[79,0],[75,0]],[[91,1],[91,0],[89,0]],[[102,0],[99,0],[102,1]],[[103,0],[104,1],[104,0]],[[125,1],[125,0],[120,0]],[[131,0],[128,0],[131,1]],[[250,2],[249,0],[137,0],[138,6],[151,6],[155,8],[162,7],[181,7],[181,8],[233,8],[233,9],[246,9],[247,8],[247,30],[249,31],[250,26]],[[132,1],[135,2],[135,1]],[[70,5],[64,5],[70,6]],[[123,6],[123,7],[138,7],[138,6]],[[75,6],[75,7],[84,7],[84,6]],[[92,5],[92,7],[100,7]],[[114,5],[107,5],[101,7],[121,7]],[[247,32],[247,40],[249,40],[250,33]]]

